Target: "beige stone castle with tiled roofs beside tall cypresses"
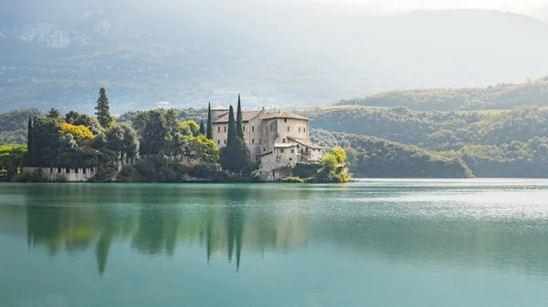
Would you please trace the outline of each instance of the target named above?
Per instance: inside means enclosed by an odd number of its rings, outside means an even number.
[[[227,146],[228,109],[213,107],[213,139],[218,148]],[[242,111],[244,141],[251,159],[260,162],[260,171],[269,178],[276,169],[294,168],[299,162],[320,162],[323,148],[310,140],[310,119],[288,111]]]

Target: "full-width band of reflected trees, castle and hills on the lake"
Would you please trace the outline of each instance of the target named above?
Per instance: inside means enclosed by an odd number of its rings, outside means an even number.
[[[221,259],[235,271],[245,265],[248,253],[306,247],[318,255],[331,251],[355,259],[548,274],[545,209],[525,201],[518,210],[515,200],[504,202],[504,193],[515,190],[498,191],[500,201],[482,204],[459,198],[481,199],[480,193],[489,191],[447,187],[443,190],[451,201],[436,203],[424,201],[440,192],[431,188],[16,187],[0,200],[0,208],[5,220],[26,223],[29,248],[45,249],[51,257],[61,251],[94,252],[100,275],[109,270],[115,244],[167,258],[200,246],[205,263]],[[548,197],[548,188],[540,192]],[[523,190],[523,201],[527,193]],[[481,210],[481,220],[467,211],[472,207]],[[510,209],[516,213],[501,214]],[[15,229],[3,229],[2,223],[0,215],[0,234]]]

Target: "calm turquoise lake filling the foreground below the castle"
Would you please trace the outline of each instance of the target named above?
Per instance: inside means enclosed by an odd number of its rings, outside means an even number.
[[[548,180],[0,184],[0,306],[548,306]]]

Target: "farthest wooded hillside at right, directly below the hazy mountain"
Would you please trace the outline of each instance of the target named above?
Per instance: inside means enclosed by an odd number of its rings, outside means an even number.
[[[364,98],[343,99],[342,105],[409,107],[416,110],[482,110],[516,106],[548,106],[548,77],[491,87],[393,90]]]

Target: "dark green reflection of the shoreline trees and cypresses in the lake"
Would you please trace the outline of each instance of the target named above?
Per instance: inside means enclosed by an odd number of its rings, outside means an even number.
[[[62,250],[74,254],[94,249],[100,275],[107,270],[116,242],[167,257],[185,242],[200,244],[208,263],[225,255],[239,271],[244,249],[286,251],[308,237],[309,222],[303,215],[256,210],[261,190],[130,189],[132,193],[127,193],[122,188],[98,194],[78,188],[36,187],[24,195],[27,243],[32,249],[45,247],[53,257]],[[251,199],[250,194],[254,194]]]

